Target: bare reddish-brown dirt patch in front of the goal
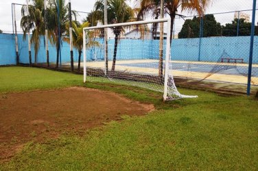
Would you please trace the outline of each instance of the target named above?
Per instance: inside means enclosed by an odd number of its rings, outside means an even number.
[[[112,92],[86,88],[0,94],[0,161],[31,140],[43,142],[64,132],[83,134],[121,116],[140,116],[153,105]]]

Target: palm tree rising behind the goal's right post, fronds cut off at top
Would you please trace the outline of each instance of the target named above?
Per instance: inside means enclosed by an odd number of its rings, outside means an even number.
[[[152,14],[154,18],[159,18],[161,15],[161,1],[160,0],[137,0],[141,2],[141,7],[139,9],[139,14],[137,18],[142,20],[146,16],[148,17],[149,14]],[[212,0],[164,0],[164,12],[165,14],[170,16],[171,21],[171,29],[170,29],[170,44],[172,42],[173,36],[173,27],[174,27],[174,19],[177,14],[178,10],[181,11],[188,11],[188,12],[198,12],[200,16],[204,14],[205,8],[209,5]],[[154,25],[156,28],[156,25]],[[154,30],[156,31],[156,30]],[[161,77],[163,74],[163,55],[160,53],[159,56],[159,76]]]

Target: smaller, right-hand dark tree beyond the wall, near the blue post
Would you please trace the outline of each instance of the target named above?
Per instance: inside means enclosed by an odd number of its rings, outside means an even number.
[[[222,36],[237,36],[237,22],[238,19],[235,18],[232,23],[227,23],[225,26],[222,26]],[[246,22],[244,18],[240,18],[238,36],[250,36],[251,27],[252,23]],[[255,28],[255,30],[255,35],[258,35],[257,27]]]

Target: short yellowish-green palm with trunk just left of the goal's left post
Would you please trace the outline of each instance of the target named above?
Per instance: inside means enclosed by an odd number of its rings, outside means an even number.
[[[84,22],[82,25],[80,25],[78,22],[73,21],[72,27],[73,27],[73,46],[75,49],[78,49],[79,57],[78,57],[78,72],[80,72],[80,61],[82,57],[82,49],[83,49],[83,28],[89,27],[89,22]],[[67,33],[69,31],[69,23],[67,23]],[[91,37],[91,36],[90,36]],[[69,38],[64,38],[65,42],[70,42]],[[89,43],[86,44],[86,47],[90,46],[99,46],[99,43],[93,40],[89,40]]]

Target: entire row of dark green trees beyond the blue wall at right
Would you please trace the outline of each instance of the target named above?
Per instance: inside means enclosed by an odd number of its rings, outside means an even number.
[[[178,38],[199,38],[200,37],[200,17],[194,16],[193,19],[185,20],[185,23],[178,34]],[[213,14],[203,17],[202,37],[213,36],[237,36],[237,22],[235,18],[232,23],[221,25],[215,20]],[[238,36],[250,36],[252,23],[246,22],[244,18],[239,19]],[[255,26],[255,35],[258,35],[258,27]]]

